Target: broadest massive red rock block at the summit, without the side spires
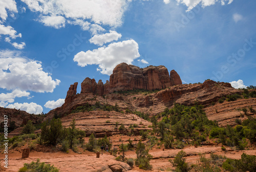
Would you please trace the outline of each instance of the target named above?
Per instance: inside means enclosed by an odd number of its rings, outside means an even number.
[[[161,90],[170,87],[168,70],[164,66],[139,68],[120,63],[110,76],[110,92],[145,89]]]

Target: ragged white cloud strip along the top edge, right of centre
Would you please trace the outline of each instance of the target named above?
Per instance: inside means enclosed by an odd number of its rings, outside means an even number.
[[[166,0],[164,0],[165,2]],[[202,7],[214,5],[216,2],[221,2],[221,5],[231,4],[233,0],[176,0],[179,4],[185,4],[188,7],[188,11],[196,7],[198,4],[201,3]],[[167,1],[166,1],[167,2]],[[165,3],[166,4],[166,3]]]

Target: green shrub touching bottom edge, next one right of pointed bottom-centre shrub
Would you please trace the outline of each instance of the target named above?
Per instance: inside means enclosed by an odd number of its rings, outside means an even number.
[[[176,166],[176,171],[182,171],[186,172],[189,170],[189,166],[186,163],[186,159],[183,158],[186,155],[186,153],[181,150],[175,157],[174,160],[169,159],[169,162],[173,164],[173,166]]]

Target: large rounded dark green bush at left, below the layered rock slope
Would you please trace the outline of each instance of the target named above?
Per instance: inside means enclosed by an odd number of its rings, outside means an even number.
[[[63,128],[61,120],[53,118],[50,122],[42,123],[40,142],[56,146],[67,136],[67,131]]]

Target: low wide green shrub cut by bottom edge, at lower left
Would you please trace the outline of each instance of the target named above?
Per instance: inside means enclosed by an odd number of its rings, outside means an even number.
[[[37,159],[36,162],[25,163],[24,167],[19,169],[19,172],[26,172],[26,171],[34,171],[34,172],[58,172],[59,169],[54,167],[54,165],[45,164],[45,162],[40,162],[39,159]]]

